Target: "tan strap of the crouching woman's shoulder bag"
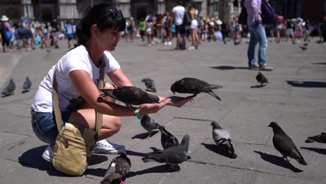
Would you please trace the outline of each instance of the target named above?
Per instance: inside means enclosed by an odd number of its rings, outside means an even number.
[[[100,82],[98,86],[98,90],[100,93],[100,89],[104,88],[104,68],[105,68],[105,62],[102,60],[102,57],[100,59]],[[53,79],[52,79],[52,97],[53,97],[53,105],[54,105],[54,114],[56,116],[56,126],[58,128],[58,131],[60,132],[61,130],[61,125],[62,125],[62,118],[61,118],[61,111],[60,111],[60,105],[59,105],[59,92],[58,92],[58,84],[56,82],[56,70],[54,69],[53,72]],[[100,133],[100,130],[102,128],[102,123],[103,123],[103,116],[99,112],[96,112],[95,116],[95,131],[96,131],[96,139],[98,139],[98,135]]]

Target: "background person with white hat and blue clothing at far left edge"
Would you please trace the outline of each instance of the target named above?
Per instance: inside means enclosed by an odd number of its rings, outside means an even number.
[[[0,33],[2,38],[2,49],[3,52],[6,52],[9,49],[9,43],[10,43],[10,39],[13,37],[13,33],[11,33],[10,23],[8,22],[9,18],[6,15],[2,15],[0,20],[1,20]]]

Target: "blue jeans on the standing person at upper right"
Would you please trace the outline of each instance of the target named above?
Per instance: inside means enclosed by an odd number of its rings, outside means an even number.
[[[256,64],[255,47],[257,45],[257,42],[259,43],[258,64],[259,66],[264,66],[266,64],[267,38],[263,24],[261,22],[255,22],[254,24],[249,26],[249,31],[250,42],[247,52],[249,67]]]

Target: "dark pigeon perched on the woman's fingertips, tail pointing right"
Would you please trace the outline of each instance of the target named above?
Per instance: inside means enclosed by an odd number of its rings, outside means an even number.
[[[217,100],[221,100],[212,90],[219,89],[222,86],[218,86],[215,84],[208,84],[200,79],[195,79],[191,77],[186,77],[174,82],[171,85],[171,91],[175,94],[178,93],[192,93],[197,95],[199,93],[208,93],[212,95]]]

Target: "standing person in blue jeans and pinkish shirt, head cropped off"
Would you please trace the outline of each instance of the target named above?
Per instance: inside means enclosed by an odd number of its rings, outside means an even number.
[[[266,66],[267,38],[261,18],[262,0],[244,0],[244,7],[247,9],[247,24],[250,31],[250,41],[248,47],[248,65],[250,70],[272,71],[273,68]],[[258,64],[255,59],[255,47],[258,48]]]

